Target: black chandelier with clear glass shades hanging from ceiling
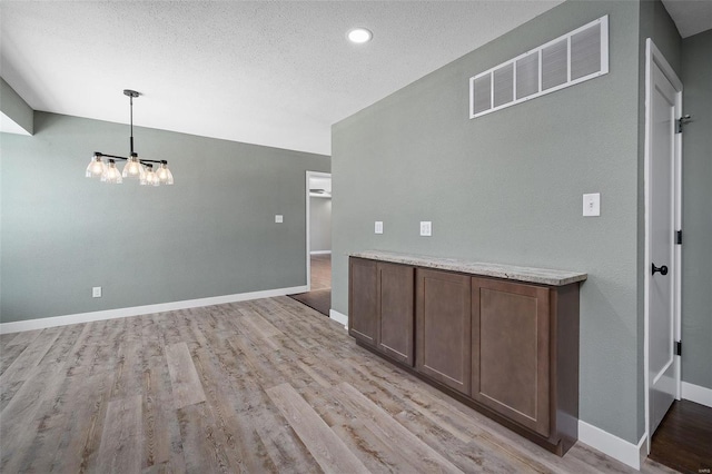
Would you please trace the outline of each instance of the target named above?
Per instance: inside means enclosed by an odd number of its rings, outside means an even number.
[[[95,151],[85,176],[87,178],[99,178],[101,182],[110,185],[120,185],[123,182],[123,178],[138,179],[139,185],[142,186],[172,185],[174,175],[168,169],[168,161],[142,159],[134,151],[134,98],[138,97],[139,93],[135,90],[125,89],[123,95],[129,97],[131,110],[131,152],[128,157],[119,157]],[[119,172],[116,167],[116,160],[126,161],[123,171]],[[154,170],[154,164],[157,165],[156,170]]]

